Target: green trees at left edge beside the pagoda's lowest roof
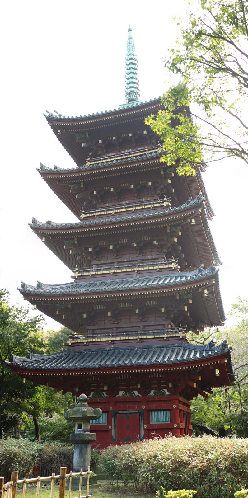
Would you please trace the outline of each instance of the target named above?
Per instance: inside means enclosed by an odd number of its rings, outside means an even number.
[[[39,417],[51,417],[54,413],[62,414],[66,399],[62,393],[54,393],[52,387],[23,382],[5,361],[10,355],[26,356],[26,352],[41,353],[49,347],[44,340],[44,319],[41,315],[31,316],[27,308],[10,306],[8,293],[0,289],[0,438],[2,430],[17,429],[21,420],[32,419],[35,438],[39,439]],[[58,349],[61,349],[59,336]],[[49,337],[55,336],[50,334]],[[63,336],[64,337],[64,336]],[[56,339],[53,337],[53,348]],[[54,350],[54,349],[53,349]],[[51,351],[48,351],[51,352]],[[15,423],[14,423],[15,422]]]

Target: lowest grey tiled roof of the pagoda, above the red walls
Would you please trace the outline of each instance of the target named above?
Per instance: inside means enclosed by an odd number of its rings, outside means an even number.
[[[28,353],[27,358],[11,355],[9,366],[34,370],[72,370],[111,367],[141,367],[151,365],[171,365],[197,360],[212,359],[226,353],[230,358],[231,347],[227,341],[218,346],[214,341],[208,344],[188,344],[162,346],[115,347],[94,350],[63,350],[49,355]]]

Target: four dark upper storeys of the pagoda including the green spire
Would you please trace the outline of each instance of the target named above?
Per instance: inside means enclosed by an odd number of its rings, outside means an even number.
[[[22,284],[20,291],[80,334],[79,348],[183,341],[186,331],[199,333],[225,320],[216,268],[221,260],[208,224],[214,213],[201,176],[205,165],[195,166],[194,176],[179,177],[177,164],[161,162],[165,151],[144,119],[164,107],[160,98],[137,101],[130,29],[125,90],[127,104],[114,111],[46,116],[77,167],[41,164],[39,173],[80,221],[33,218],[30,226],[74,281]]]

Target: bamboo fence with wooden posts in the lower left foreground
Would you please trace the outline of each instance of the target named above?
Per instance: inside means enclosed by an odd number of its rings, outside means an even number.
[[[4,484],[4,477],[0,477],[0,498],[16,498],[16,491],[18,485],[22,485],[22,498],[25,498],[27,483],[36,483],[35,498],[39,498],[40,483],[43,481],[51,482],[50,498],[53,498],[55,479],[59,480],[59,498],[65,498],[65,483],[67,478],[69,478],[68,498],[72,498],[71,497],[72,478],[78,476],[79,476],[78,496],[73,498],[89,498],[91,497],[91,495],[89,494],[91,474],[93,474],[93,471],[90,470],[90,467],[88,467],[88,471],[83,472],[83,469],[81,469],[80,472],[71,471],[70,474],[66,474],[66,467],[60,467],[60,474],[58,476],[55,476],[55,474],[53,473],[51,476],[46,476],[46,477],[38,476],[32,479],[24,478],[18,480],[18,472],[11,472],[10,481],[6,484]],[[81,495],[83,476],[85,477],[87,476],[86,495]]]

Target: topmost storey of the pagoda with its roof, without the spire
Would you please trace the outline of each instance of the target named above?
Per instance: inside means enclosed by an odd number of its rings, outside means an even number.
[[[49,113],[46,120],[80,167],[89,158],[156,145],[158,135],[145,126],[144,119],[162,109],[164,106],[159,97],[88,116],[66,117]]]

